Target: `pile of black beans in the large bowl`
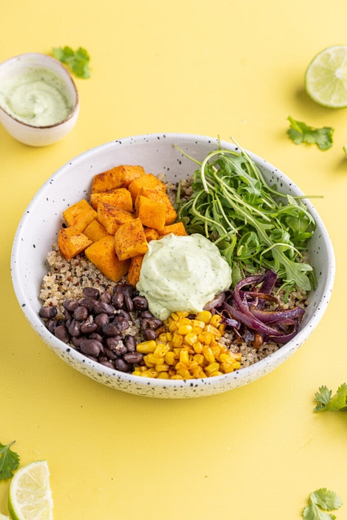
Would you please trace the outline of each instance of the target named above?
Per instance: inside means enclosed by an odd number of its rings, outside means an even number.
[[[148,302],[133,286],[120,282],[113,294],[92,287],[83,289],[79,300],[65,300],[64,318],[56,319],[55,306],[41,307],[39,315],[47,329],[59,340],[101,365],[132,372],[143,364],[143,354],[136,352],[135,335],[126,331],[139,322],[138,341],[155,340],[156,329],[163,322],[148,310]]]

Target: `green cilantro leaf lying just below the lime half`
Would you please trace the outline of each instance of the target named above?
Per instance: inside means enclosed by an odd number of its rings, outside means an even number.
[[[320,150],[328,150],[332,146],[333,128],[324,126],[323,128],[313,128],[302,121],[295,121],[289,116],[290,128],[287,134],[294,141],[295,145],[305,142],[308,145],[317,145]]]

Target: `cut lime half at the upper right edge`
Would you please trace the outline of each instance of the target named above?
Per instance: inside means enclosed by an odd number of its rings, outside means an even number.
[[[324,107],[347,107],[347,45],[322,50],[305,73],[307,94]]]

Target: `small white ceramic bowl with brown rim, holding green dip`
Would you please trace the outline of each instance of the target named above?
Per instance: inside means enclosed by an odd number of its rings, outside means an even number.
[[[29,68],[48,69],[59,76],[71,101],[72,110],[70,114],[66,119],[56,124],[33,126],[14,118],[0,106],[0,122],[12,137],[24,145],[51,145],[65,137],[76,124],[80,110],[79,94],[67,69],[55,58],[40,53],[21,54],[0,63],[0,87],[3,82],[27,71]]]

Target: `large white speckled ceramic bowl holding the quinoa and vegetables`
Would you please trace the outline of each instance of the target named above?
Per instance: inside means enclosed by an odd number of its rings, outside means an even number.
[[[187,381],[140,378],[104,367],[62,343],[45,328],[38,317],[41,307],[38,294],[46,272],[45,258],[52,243],[57,241],[62,211],[68,204],[73,204],[90,192],[93,175],[118,164],[140,164],[147,173],[163,172],[172,181],[189,176],[196,165],[178,152],[173,147],[174,144],[199,160],[217,149],[217,139],[210,137],[151,134],[109,142],[82,153],[62,166],[47,180],[25,210],[12,248],[11,268],[14,289],[24,315],[49,348],[70,366],[95,381],[123,392],[149,397],[188,398],[219,394],[246,385],[274,370],[298,350],[317,326],[328,305],[335,276],[335,257],[322,220],[311,202],[306,201],[317,223],[315,235],[310,242],[310,255],[318,284],[316,290],[310,293],[311,303],[307,307],[300,331],[292,341],[274,354],[230,374]],[[235,149],[235,146],[223,141],[222,147]],[[288,193],[302,194],[272,164],[253,153],[250,155],[269,183],[277,184]],[[39,360],[36,359],[36,362]]]

